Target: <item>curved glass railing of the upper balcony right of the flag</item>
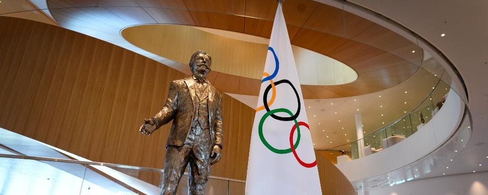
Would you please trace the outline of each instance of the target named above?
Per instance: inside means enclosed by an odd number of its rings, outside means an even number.
[[[422,67],[419,71],[428,70],[425,70]],[[325,150],[338,159],[337,163],[343,163],[345,161],[357,159],[361,156],[364,157],[381,152],[384,149],[407,139],[417,131],[421,131],[422,127],[439,112],[447,98],[459,99],[465,104],[461,96],[452,90],[451,87],[444,82],[444,79],[441,79],[443,78],[442,74],[446,73],[441,73],[440,76],[437,74],[431,75],[438,78],[437,83],[418,106],[409,112],[405,111],[405,114],[400,119],[391,122],[390,124],[386,124],[375,131],[369,131],[371,133],[364,135],[362,139]],[[448,77],[445,76],[444,78]],[[448,95],[452,96],[448,97]],[[466,106],[464,108],[467,110]],[[360,150],[363,150],[362,154]]]

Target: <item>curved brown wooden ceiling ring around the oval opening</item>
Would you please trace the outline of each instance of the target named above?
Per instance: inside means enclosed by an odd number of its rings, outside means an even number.
[[[277,7],[275,0],[48,0],[47,3],[61,26],[173,68],[174,61],[136,48],[121,38],[119,31],[132,25],[164,23],[269,37]],[[356,81],[344,85],[302,85],[305,99],[380,91],[410,78],[421,63],[422,51],[415,43],[349,12],[310,0],[287,0],[284,15],[293,45],[342,61],[358,73]],[[214,73],[210,79],[224,92],[246,95],[259,92],[257,79],[223,73]]]

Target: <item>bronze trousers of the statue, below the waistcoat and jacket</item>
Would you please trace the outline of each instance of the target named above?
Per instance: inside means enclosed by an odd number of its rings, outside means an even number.
[[[176,194],[179,180],[188,165],[188,194],[203,195],[210,175],[212,150],[210,129],[191,127],[183,146],[166,147],[161,195]]]

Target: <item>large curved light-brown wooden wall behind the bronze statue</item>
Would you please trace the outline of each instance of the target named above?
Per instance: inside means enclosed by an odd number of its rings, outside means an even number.
[[[74,31],[0,17],[0,76],[0,127],[90,160],[163,168],[170,125],[150,137],[138,128],[185,74]],[[245,180],[255,111],[226,94],[223,106],[223,158],[211,175]]]

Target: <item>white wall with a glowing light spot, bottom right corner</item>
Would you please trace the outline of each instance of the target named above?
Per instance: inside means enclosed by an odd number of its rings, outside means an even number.
[[[369,195],[487,195],[488,172],[412,180],[371,190]]]

